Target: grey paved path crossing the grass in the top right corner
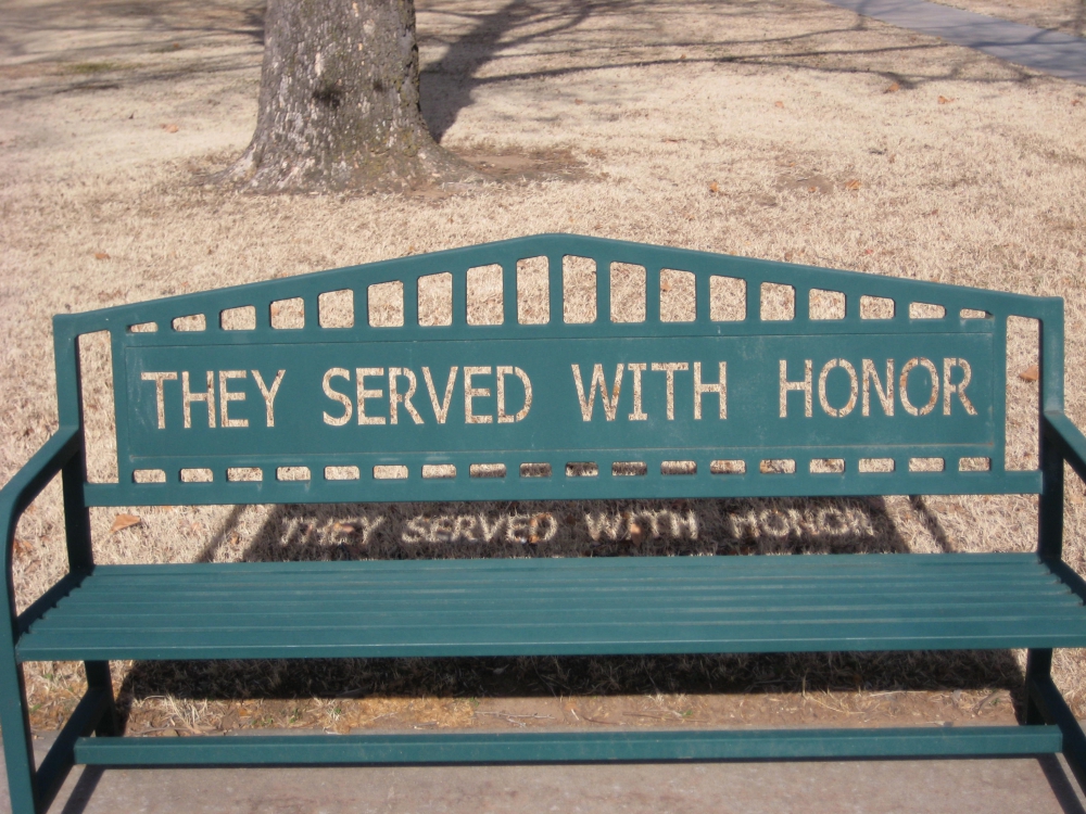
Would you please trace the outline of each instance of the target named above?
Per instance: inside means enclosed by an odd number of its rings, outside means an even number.
[[[942,37],[1000,60],[1086,85],[1086,40],[926,0],[826,0],[866,17]]]

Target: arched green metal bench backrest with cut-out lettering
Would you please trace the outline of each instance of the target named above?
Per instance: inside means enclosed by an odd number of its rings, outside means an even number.
[[[534,257],[550,315],[522,323],[518,263]],[[595,264],[594,321],[564,319],[569,257]],[[643,321],[613,320],[613,264],[646,269]],[[503,321],[470,325],[468,270],[492,265]],[[661,320],[661,269],[693,275],[690,321]],[[419,325],[419,279],[442,274],[451,323]],[[710,307],[717,277],[745,287],[731,314]],[[388,282],[403,325],[374,327],[370,287]],[[792,318],[763,318],[766,285],[793,290]],[[811,314],[812,290],[843,295],[839,318]],[[332,292],[350,292],[336,295],[350,327],[325,327]],[[867,297],[883,318],[863,318]],[[304,325],[276,327],[292,308]],[[59,316],[54,331],[63,424],[83,420],[77,336],[111,338],[119,482],[88,484],[88,505],[1036,493],[1038,472],[1005,467],[1010,316],[1040,321],[1043,399],[1061,406],[1059,298],[570,234]]]

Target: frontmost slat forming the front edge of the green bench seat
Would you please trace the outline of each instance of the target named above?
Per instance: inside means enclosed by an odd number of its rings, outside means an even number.
[[[606,656],[1086,647],[1081,613],[1044,621],[453,626],[426,631],[59,631],[25,637],[23,661],[122,659]]]

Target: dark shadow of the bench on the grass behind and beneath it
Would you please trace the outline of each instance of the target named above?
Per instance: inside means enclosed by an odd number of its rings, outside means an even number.
[[[911,498],[911,506],[937,547],[949,550],[937,514],[923,498]],[[238,507],[231,512],[199,560],[910,550],[882,498],[279,506],[268,509],[258,531],[242,543],[244,511]],[[686,522],[691,516],[696,535]],[[672,525],[674,518],[678,525]],[[480,538],[487,532],[490,539]],[[127,716],[135,701],[153,697],[286,703],[299,698],[606,699],[959,689],[981,690],[986,698],[1010,696],[1018,712],[1022,681],[1010,651],[139,662],[121,687],[119,705]]]

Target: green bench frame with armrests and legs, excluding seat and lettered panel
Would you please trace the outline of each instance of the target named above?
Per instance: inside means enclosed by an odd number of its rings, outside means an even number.
[[[579,255],[596,260],[597,318],[588,325],[567,325],[560,319],[563,257]],[[996,351],[1006,349],[1006,326],[1009,316],[1034,318],[1040,325],[1040,467],[1038,471],[1018,472],[1003,469],[1005,391],[1002,356],[996,355],[992,371],[996,399],[994,425],[998,437],[989,444],[992,459],[986,472],[958,472],[948,467],[940,473],[908,472],[898,459],[894,472],[860,476],[855,467],[834,475],[812,475],[799,467],[795,474],[767,475],[759,471],[757,458],[748,458],[746,474],[732,479],[714,479],[702,472],[692,479],[667,479],[649,475],[644,479],[599,478],[585,485],[580,480],[570,485],[560,473],[546,483],[526,483],[515,475],[506,479],[470,479],[459,476],[449,481],[429,481],[427,496],[432,500],[470,499],[564,499],[592,497],[737,497],[737,496],[836,496],[862,494],[1001,494],[1039,493],[1039,530],[1037,554],[1041,561],[1071,590],[1086,599],[1086,583],[1062,561],[1064,463],[1086,480],[1086,437],[1064,415],[1063,404],[1063,302],[1060,298],[1028,297],[975,289],[924,283],[913,280],[877,278],[845,271],[685,252],[658,246],[644,246],[577,236],[538,236],[470,249],[408,257],[369,266],[352,267],[307,275],[289,280],[171,297],[151,303],[121,306],[54,319],[59,430],[42,448],[0,491],[0,521],[5,530],[3,548],[4,590],[10,624],[0,625],[0,723],[8,767],[12,810],[17,814],[45,812],[74,763],[105,765],[244,765],[244,764],[367,764],[367,763],[520,763],[554,761],[669,761],[731,759],[824,759],[875,756],[945,756],[977,754],[1030,754],[1062,751],[1079,784],[1086,785],[1086,737],[1075,721],[1062,694],[1051,678],[1052,651],[1034,649],[1026,666],[1027,707],[1025,725],[1021,727],[983,727],[974,729],[874,729],[874,730],[781,730],[781,732],[664,732],[664,733],[465,733],[447,736],[336,736],[323,737],[237,737],[229,739],[182,738],[175,740],[122,739],[117,729],[113,687],[109,662],[88,661],[88,691],[79,702],[49,754],[35,766],[30,746],[30,728],[18,657],[20,639],[33,623],[77,586],[94,569],[91,546],[90,506],[141,506],[171,504],[269,504],[269,503],[362,503],[420,499],[417,481],[323,481],[306,482],[265,480],[261,483],[182,483],[175,478],[177,460],[165,456],[161,466],[172,474],[166,483],[135,483],[134,473],[149,458],[127,448],[118,437],[121,480],[116,484],[88,483],[86,471],[81,384],[78,338],[100,330],[111,332],[114,359],[114,381],[126,374],[124,354],[134,346],[155,343],[242,343],[244,338],[209,325],[204,333],[171,332],[168,326],[178,316],[206,314],[209,317],[232,307],[256,303],[258,326],[250,334],[254,342],[267,342],[276,334],[292,334],[286,342],[314,342],[326,335],[313,318],[318,310],[320,293],[343,288],[354,290],[355,313],[366,311],[366,287],[401,280],[411,292],[420,277],[444,271],[453,275],[453,310],[463,315],[466,308],[466,269],[488,264],[503,268],[504,290],[515,292],[517,262],[523,257],[543,256],[550,263],[551,321],[543,326],[518,325],[516,296],[506,293],[505,320],[502,326],[467,326],[463,317],[453,325],[433,329],[417,326],[414,297],[404,297],[404,322],[401,328],[375,329],[356,325],[348,329],[344,341],[365,342],[381,333],[395,341],[412,342],[437,331],[450,339],[495,340],[523,336],[553,338],[561,341],[622,339],[631,335],[652,336],[659,341],[681,342],[698,335],[775,335],[808,336],[819,331],[842,331],[851,334],[891,330],[917,333],[930,330],[930,321],[913,320],[908,314],[896,314],[891,320],[872,325],[860,320],[860,298],[883,296],[893,298],[899,310],[908,302],[943,305],[943,323],[951,332],[970,330],[965,319],[955,315],[959,309],[980,309],[992,320],[986,330],[995,338]],[[648,269],[646,280],[646,323],[621,325],[607,319],[609,306],[609,264],[626,262]],[[694,322],[659,321],[659,270],[677,268],[695,275],[697,318]],[[747,287],[745,320],[734,323],[709,320],[710,277],[721,275],[743,279]],[[795,290],[795,319],[791,322],[768,323],[757,318],[759,289],[763,282],[792,285]],[[838,291],[845,294],[847,311],[844,320],[826,327],[809,319],[806,292],[810,289]],[[299,331],[276,331],[269,323],[267,306],[274,301],[301,297],[305,305],[306,327]],[[263,310],[262,310],[263,308]],[[209,322],[212,320],[209,319]],[[217,321],[217,320],[216,320]],[[359,321],[356,319],[356,323]],[[132,333],[130,326],[156,322],[157,333]],[[926,325],[925,325],[926,322]],[[633,331],[633,333],[631,333]],[[443,332],[443,333],[442,333]],[[348,335],[350,334],[350,335]],[[125,421],[126,405],[122,387],[117,386],[117,422]],[[118,436],[121,433],[118,433]],[[919,447],[918,447],[919,448]],[[955,454],[946,445],[933,447],[937,454]],[[836,453],[834,451],[836,449]],[[949,449],[949,451],[948,451]],[[446,450],[447,451],[447,450]],[[665,450],[666,455],[671,450]],[[775,454],[780,454],[776,450]],[[784,450],[785,454],[790,449]],[[850,460],[871,453],[877,446],[850,448],[820,447],[807,450],[815,457],[839,453]],[[961,450],[958,450],[959,453]],[[967,450],[968,451],[968,450]],[[975,450],[974,450],[975,451]],[[444,457],[425,454],[409,458],[414,467],[425,460],[453,461],[467,469],[471,449],[454,450]],[[761,454],[761,453],[759,453]],[[800,455],[791,454],[801,463]],[[908,450],[906,450],[906,455]],[[327,457],[327,456],[326,456]],[[401,456],[402,458],[403,456]],[[645,456],[649,457],[649,456]],[[365,458],[364,462],[391,462],[386,455]],[[285,466],[312,466],[314,456],[286,456]],[[555,459],[558,461],[558,459]],[[602,462],[607,462],[605,456]],[[515,466],[515,457],[506,459]],[[655,466],[657,459],[652,459]],[[153,461],[152,461],[153,463]],[[242,461],[242,466],[245,462]],[[558,466],[556,462],[555,466]],[[601,466],[603,470],[603,466]],[[20,517],[41,489],[58,474],[63,482],[63,506],[70,573],[39,597],[22,613],[16,612],[12,576],[15,529]],[[465,473],[466,474],[466,473]],[[88,737],[93,734],[97,737]]]

